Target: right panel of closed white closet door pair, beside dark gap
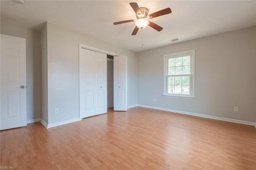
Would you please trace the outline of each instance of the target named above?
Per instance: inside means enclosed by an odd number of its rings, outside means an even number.
[[[107,112],[107,55],[95,52],[95,98],[96,111],[99,115]]]

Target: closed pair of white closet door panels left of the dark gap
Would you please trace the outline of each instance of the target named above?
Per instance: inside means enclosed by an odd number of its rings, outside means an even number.
[[[107,112],[107,55],[80,49],[80,117]]]

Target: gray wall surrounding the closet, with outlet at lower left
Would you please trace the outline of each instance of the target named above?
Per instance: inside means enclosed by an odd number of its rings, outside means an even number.
[[[128,56],[128,106],[137,104],[136,52],[47,23],[48,124],[79,118],[79,43]]]

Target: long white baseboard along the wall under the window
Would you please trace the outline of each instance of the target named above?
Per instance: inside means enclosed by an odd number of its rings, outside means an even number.
[[[244,124],[244,125],[252,125],[252,126],[255,126],[255,128],[256,128],[256,123],[254,123],[254,122],[240,121],[240,120],[236,120],[236,119],[229,119],[229,118],[224,118],[224,117],[203,115],[203,114],[199,114],[199,113],[191,113],[191,112],[177,111],[177,110],[172,110],[172,109],[165,109],[165,108],[161,108],[161,107],[152,107],[152,106],[146,106],[146,105],[138,105],[138,107],[145,107],[145,108],[157,109],[157,110],[161,110],[161,111],[168,111],[168,112],[174,112],[174,113],[181,113],[181,114],[185,114],[185,115],[192,115],[192,116],[197,116],[197,117],[204,117],[204,118],[215,119],[215,120],[219,120],[219,121],[240,123],[240,124]]]

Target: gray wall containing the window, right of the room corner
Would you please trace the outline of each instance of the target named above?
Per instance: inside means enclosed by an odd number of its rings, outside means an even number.
[[[140,52],[138,104],[256,122],[255,34],[254,26]],[[190,49],[196,50],[196,98],[162,97],[163,55]]]

